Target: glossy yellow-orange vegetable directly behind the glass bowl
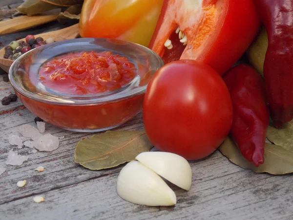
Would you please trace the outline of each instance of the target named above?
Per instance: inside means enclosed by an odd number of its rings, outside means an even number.
[[[80,35],[148,46],[162,5],[163,0],[85,0]]]

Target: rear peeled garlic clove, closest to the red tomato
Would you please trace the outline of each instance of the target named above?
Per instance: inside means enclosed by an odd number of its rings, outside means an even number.
[[[144,152],[135,158],[176,186],[185,190],[190,189],[191,167],[182,156],[167,152]]]

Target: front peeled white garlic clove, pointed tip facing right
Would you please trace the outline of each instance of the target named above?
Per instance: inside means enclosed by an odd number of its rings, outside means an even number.
[[[176,204],[176,195],[155,172],[138,161],[129,162],[120,172],[117,193],[126,201],[148,206]]]

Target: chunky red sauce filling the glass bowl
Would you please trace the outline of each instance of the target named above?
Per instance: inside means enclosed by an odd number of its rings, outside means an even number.
[[[49,60],[37,78],[56,95],[92,95],[113,91],[128,84],[137,74],[128,58],[105,52],[77,52]],[[139,74],[139,73],[138,73]],[[29,84],[27,85],[30,88]],[[33,91],[33,89],[30,89]],[[71,131],[104,131],[124,124],[143,108],[144,94],[99,104],[47,103],[17,92],[21,102],[44,121]]]

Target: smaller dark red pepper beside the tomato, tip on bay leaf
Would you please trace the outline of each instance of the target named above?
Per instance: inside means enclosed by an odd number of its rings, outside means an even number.
[[[270,118],[264,81],[256,70],[246,65],[233,67],[224,76],[224,81],[233,105],[230,134],[241,154],[257,167],[264,162]]]

